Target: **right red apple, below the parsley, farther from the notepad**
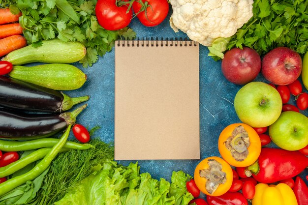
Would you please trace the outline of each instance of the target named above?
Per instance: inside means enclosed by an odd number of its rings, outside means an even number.
[[[301,56],[286,47],[278,47],[262,59],[261,73],[266,80],[279,86],[293,83],[302,72]]]

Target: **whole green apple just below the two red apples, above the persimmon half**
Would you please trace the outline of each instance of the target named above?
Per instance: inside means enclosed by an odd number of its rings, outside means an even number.
[[[251,127],[267,127],[280,116],[282,100],[277,89],[263,82],[251,82],[234,98],[235,112]]]

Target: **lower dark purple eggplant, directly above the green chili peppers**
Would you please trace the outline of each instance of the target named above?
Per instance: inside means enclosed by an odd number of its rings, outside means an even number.
[[[33,140],[49,137],[76,122],[76,117],[87,104],[72,112],[61,114],[27,114],[0,108],[0,138],[9,140]]]

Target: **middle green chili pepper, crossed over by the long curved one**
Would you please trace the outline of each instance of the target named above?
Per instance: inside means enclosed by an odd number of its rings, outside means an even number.
[[[31,164],[32,162],[35,162],[39,159],[44,158],[51,150],[51,147],[48,148],[41,148],[41,149],[37,149],[33,152],[31,152],[29,155],[10,163],[9,165],[5,166],[5,167],[0,167],[0,178],[1,177],[5,177],[5,176],[9,176],[15,172],[17,172],[18,170],[26,167],[27,165]],[[68,151],[68,148],[62,148],[60,150],[60,152],[65,152]]]

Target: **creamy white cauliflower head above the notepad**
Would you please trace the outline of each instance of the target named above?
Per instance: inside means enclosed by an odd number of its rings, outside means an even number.
[[[211,46],[217,38],[234,35],[252,16],[253,0],[170,0],[170,26],[191,40]]]

